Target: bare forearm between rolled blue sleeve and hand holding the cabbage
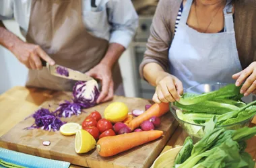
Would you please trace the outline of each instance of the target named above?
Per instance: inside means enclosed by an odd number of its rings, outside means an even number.
[[[107,65],[112,69],[113,65],[115,65],[115,62],[117,62],[124,51],[125,47],[121,44],[111,43],[108,46],[108,50],[106,51],[106,54],[100,63]]]

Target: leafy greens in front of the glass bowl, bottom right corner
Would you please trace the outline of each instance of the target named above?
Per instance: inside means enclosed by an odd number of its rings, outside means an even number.
[[[174,168],[197,167],[248,167],[253,168],[255,162],[245,152],[245,140],[256,134],[256,127],[238,130],[216,128],[216,120],[211,119],[205,126],[205,136],[193,144],[187,137],[183,148],[174,161]]]

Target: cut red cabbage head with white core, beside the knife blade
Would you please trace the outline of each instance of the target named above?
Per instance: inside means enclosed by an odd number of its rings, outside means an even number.
[[[95,80],[78,81],[73,87],[74,102],[79,103],[82,108],[96,106],[96,100],[100,95],[98,83]]]

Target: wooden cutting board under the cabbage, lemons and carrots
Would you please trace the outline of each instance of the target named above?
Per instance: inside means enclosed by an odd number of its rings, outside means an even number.
[[[69,92],[58,92],[51,99],[49,99],[49,101],[42,103],[40,107],[49,108],[50,106],[51,110],[55,110],[59,103],[63,102],[65,99],[70,100],[71,97],[71,93]],[[146,99],[119,96],[115,96],[113,101],[121,101],[126,103],[130,112],[134,109],[143,110],[146,104],[152,103]],[[79,116],[61,118],[61,120],[82,124],[84,118],[86,118],[86,116],[88,116],[90,112],[93,112],[94,110],[97,110],[103,116],[104,109],[113,101],[102,103],[94,108],[85,109],[84,111],[86,112]],[[33,112],[31,112],[31,114],[32,113]],[[0,146],[5,149],[36,155],[38,157],[68,161],[75,165],[85,167],[150,167],[164,148],[171,134],[178,126],[170,112],[162,116],[161,122],[162,124],[158,130],[164,131],[164,136],[162,136],[162,138],[108,158],[100,157],[96,150],[78,155],[75,153],[74,149],[75,136],[63,136],[60,132],[48,132],[38,129],[24,130],[24,128],[34,124],[34,118],[28,118],[28,120],[18,123],[11,130],[9,130],[9,132],[1,136]],[[43,146],[42,142],[44,140],[50,140],[51,145]]]

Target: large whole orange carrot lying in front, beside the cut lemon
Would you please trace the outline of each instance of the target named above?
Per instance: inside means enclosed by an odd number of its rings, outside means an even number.
[[[135,146],[156,140],[162,136],[161,130],[149,130],[142,132],[131,132],[116,136],[105,136],[97,142],[97,151],[101,157],[111,157]]]

